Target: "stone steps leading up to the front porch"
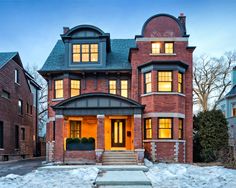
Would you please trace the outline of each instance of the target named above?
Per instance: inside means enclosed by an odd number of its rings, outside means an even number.
[[[103,165],[136,165],[137,157],[133,151],[106,151],[102,156]]]

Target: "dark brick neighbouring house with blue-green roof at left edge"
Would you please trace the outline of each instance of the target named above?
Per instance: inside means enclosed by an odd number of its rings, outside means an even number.
[[[37,93],[17,52],[0,53],[0,160],[37,155]]]

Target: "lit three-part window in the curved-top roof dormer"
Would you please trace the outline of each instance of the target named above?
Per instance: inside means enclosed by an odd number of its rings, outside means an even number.
[[[74,63],[98,62],[98,44],[73,44]]]

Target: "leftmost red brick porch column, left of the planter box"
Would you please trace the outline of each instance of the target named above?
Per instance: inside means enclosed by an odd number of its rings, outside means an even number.
[[[56,115],[56,131],[55,131],[55,154],[56,162],[63,163],[63,148],[64,148],[64,117],[63,115]]]

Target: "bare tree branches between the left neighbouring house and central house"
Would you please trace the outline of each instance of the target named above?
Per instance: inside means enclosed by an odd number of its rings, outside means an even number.
[[[42,131],[45,129],[47,123],[47,83],[37,70],[37,65],[28,64],[26,66],[26,71],[29,72],[34,77],[34,80],[42,87],[38,93],[38,123],[39,133],[42,135]]]

